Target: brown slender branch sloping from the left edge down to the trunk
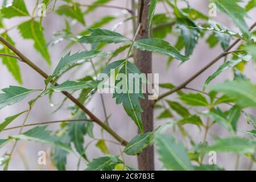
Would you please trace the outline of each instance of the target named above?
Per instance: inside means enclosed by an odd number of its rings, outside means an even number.
[[[40,69],[37,65],[35,65],[34,63],[32,63],[32,61],[30,59],[28,59],[26,56],[23,55],[23,53],[21,53],[18,49],[16,49],[13,45],[11,45],[9,42],[7,42],[7,40],[5,40],[4,38],[2,38],[2,36],[0,36],[0,42],[2,42],[3,44],[5,44],[5,46],[9,47],[11,49],[11,51],[13,51],[17,56],[20,57],[20,59],[26,63],[28,66],[30,66],[32,69],[34,69],[36,72],[38,72],[41,76],[43,76],[44,78],[48,78],[47,73],[45,73],[44,71],[42,71],[42,69]],[[54,80],[51,80],[51,83],[54,83]],[[56,83],[55,86],[57,86],[58,84]],[[93,113],[91,113],[80,101],[78,101],[75,97],[73,97],[71,94],[69,94],[68,92],[61,92],[63,93],[67,98],[69,98],[69,100],[71,100],[74,104],[76,104],[78,107],[80,107],[80,109],[82,111],[84,111],[89,117],[90,119],[92,119],[93,122],[97,123],[98,125],[100,125],[104,130],[106,130],[110,135],[112,135],[112,137],[114,137],[115,139],[118,140],[118,142],[120,142],[123,145],[126,145],[127,142],[126,140],[122,139],[121,137],[119,137],[119,135],[117,133],[115,133],[114,130],[112,130],[108,125],[106,125],[104,122],[102,122],[100,119],[98,119]]]

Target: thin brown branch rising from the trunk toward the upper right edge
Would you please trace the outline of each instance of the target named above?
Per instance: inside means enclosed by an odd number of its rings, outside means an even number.
[[[250,27],[250,31],[253,30],[253,28],[256,26],[256,22]],[[160,95],[158,97],[158,99],[155,100],[155,102],[161,100],[164,97],[167,97],[175,92],[177,92],[178,90],[184,88],[185,86],[187,86],[191,81],[195,80],[195,78],[199,75],[201,75],[201,73],[203,73],[205,70],[207,70],[210,66],[212,66],[214,63],[216,63],[218,60],[220,60],[222,57],[225,57],[226,55],[228,55],[230,52],[230,49],[232,49],[234,46],[236,46],[237,43],[239,43],[241,40],[237,39],[233,44],[231,44],[224,52],[222,52],[220,55],[218,55],[215,59],[213,59],[212,61],[210,61],[209,64],[207,64],[204,68],[200,69],[199,72],[195,73],[195,75],[193,75],[192,77],[188,78],[188,80],[184,81],[182,84],[180,84],[179,86],[175,87],[174,89],[170,90],[169,92],[166,92],[162,95]]]

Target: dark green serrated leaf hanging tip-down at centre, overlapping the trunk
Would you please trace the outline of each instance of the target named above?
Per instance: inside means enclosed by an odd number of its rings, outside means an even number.
[[[118,62],[117,64],[120,63]],[[132,77],[129,75],[132,75]],[[132,80],[130,80],[130,78]],[[136,67],[136,65],[129,61],[125,61],[125,64],[117,75],[117,79],[115,81],[115,92],[113,94],[113,98],[116,98],[116,104],[122,103],[123,109],[125,109],[127,115],[133,119],[141,133],[143,133],[141,120],[141,113],[143,110],[141,108],[139,98],[144,98],[142,93],[142,82],[146,82],[146,78],[141,75],[141,71]]]

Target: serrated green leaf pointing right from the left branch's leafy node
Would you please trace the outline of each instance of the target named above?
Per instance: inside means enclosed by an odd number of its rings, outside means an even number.
[[[108,53],[101,51],[83,51],[77,52],[71,55],[71,52],[67,53],[64,57],[61,57],[59,64],[55,68],[53,75],[57,75],[59,73],[65,72],[68,68],[72,67],[72,65],[76,64],[77,61],[83,59],[90,59],[97,56],[106,56]]]

